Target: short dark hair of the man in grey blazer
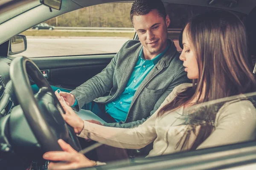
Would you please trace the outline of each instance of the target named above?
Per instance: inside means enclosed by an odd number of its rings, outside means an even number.
[[[133,24],[134,15],[146,15],[154,9],[157,9],[158,14],[166,19],[166,10],[161,0],[135,0],[131,6],[131,23]]]

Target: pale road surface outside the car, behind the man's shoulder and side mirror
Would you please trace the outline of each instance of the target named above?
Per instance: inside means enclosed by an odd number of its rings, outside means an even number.
[[[14,56],[53,57],[86,54],[116,53],[128,38],[109,37],[74,37],[74,38],[45,38],[27,37],[27,50]],[[178,40],[175,45],[179,47]],[[181,49],[178,49],[181,51]]]

